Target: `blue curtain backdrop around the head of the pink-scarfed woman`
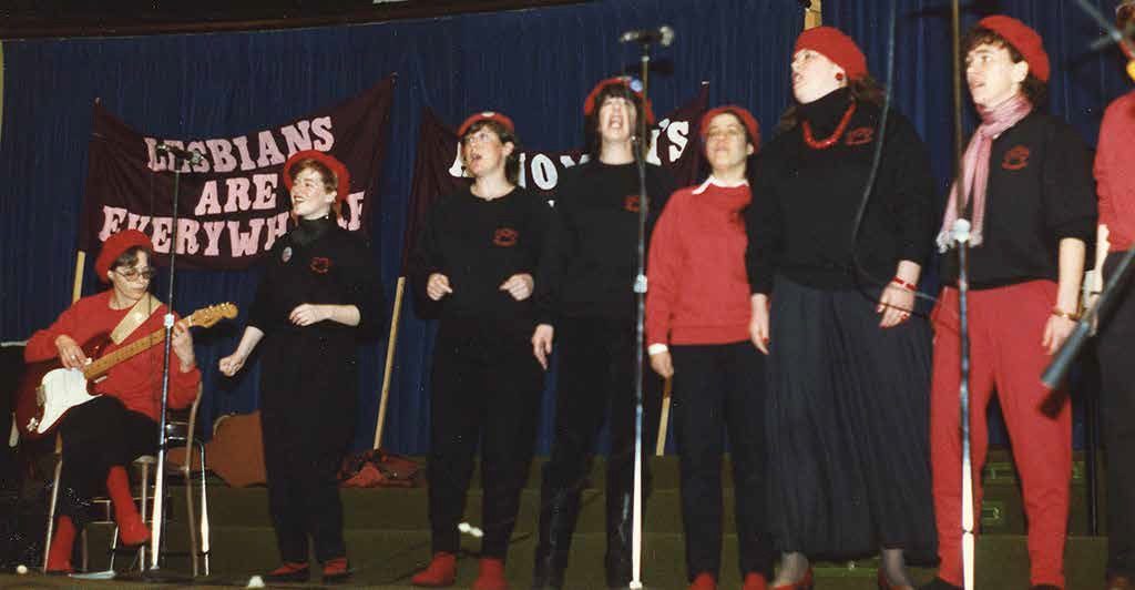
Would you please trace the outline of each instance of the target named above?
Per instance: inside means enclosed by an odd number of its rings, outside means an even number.
[[[894,79],[888,81],[888,26],[891,1],[824,0],[824,24],[841,28],[863,47],[871,71],[894,91],[896,107],[908,116],[930,145],[934,174],[940,180],[939,210],[944,209],[945,192],[953,175],[953,78],[951,66],[950,2],[945,0],[897,0]],[[1109,19],[1117,0],[1093,0]],[[964,1],[962,34],[990,14],[1019,18],[1044,37],[1052,62],[1048,109],[1068,120],[1094,149],[1103,109],[1116,96],[1129,91],[1130,78],[1117,49],[1093,52],[1088,45],[1103,35],[1098,23],[1074,1],[1001,0]],[[962,83],[965,77],[962,76]],[[968,92],[962,90],[964,133],[976,124]],[[933,277],[932,277],[933,279]],[[933,289],[930,289],[933,290]],[[1093,368],[1084,366],[1091,371]],[[1074,436],[1083,446],[1083,402],[1095,395],[1090,381],[1073,377],[1075,410]],[[1077,389],[1075,385],[1081,385]],[[1008,437],[997,406],[991,408],[990,440],[1006,444]]]

